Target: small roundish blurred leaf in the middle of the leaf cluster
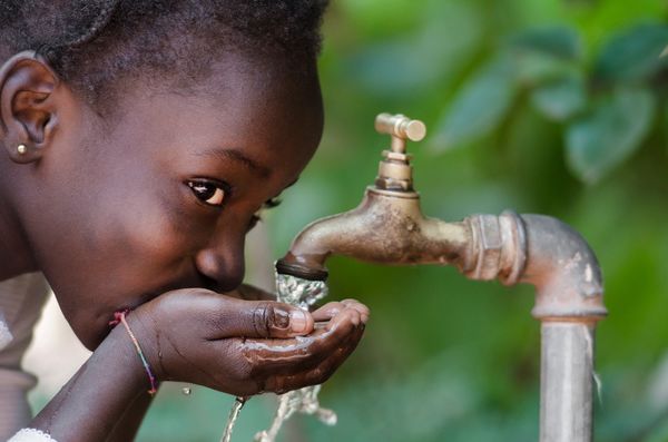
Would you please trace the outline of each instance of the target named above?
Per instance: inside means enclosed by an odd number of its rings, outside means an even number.
[[[564,121],[587,104],[584,80],[580,76],[569,76],[541,86],[531,94],[531,102],[547,118]]]

